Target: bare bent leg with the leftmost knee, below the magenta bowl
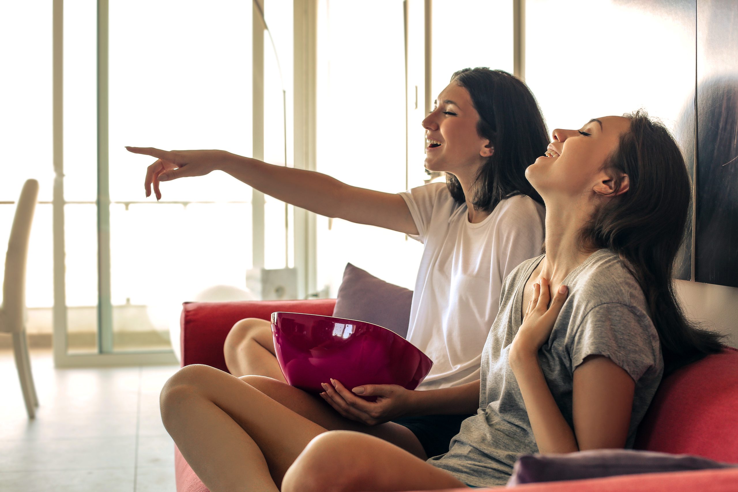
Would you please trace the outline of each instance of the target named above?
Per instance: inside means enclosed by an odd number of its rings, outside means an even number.
[[[278,491],[289,465],[325,429],[244,381],[183,367],[161,396],[162,421],[211,492]]]

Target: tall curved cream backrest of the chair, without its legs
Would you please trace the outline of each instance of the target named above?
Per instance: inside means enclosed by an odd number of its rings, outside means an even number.
[[[16,331],[24,327],[26,309],[26,263],[31,235],[33,212],[38,198],[38,181],[29,179],[23,185],[21,197],[15,207],[13,228],[5,254],[5,278],[3,282],[3,313],[5,330]]]

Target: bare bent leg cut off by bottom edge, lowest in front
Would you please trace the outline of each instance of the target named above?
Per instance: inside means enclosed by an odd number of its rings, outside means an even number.
[[[311,440],[284,476],[282,492],[430,491],[466,485],[384,440],[325,432]]]

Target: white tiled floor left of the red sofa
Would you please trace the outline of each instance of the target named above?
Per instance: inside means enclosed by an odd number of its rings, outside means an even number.
[[[55,369],[50,351],[31,357],[35,420],[0,350],[0,491],[175,491],[159,391],[176,366]]]

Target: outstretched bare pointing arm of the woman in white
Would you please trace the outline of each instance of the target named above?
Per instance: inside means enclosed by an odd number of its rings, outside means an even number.
[[[222,170],[256,190],[295,207],[359,224],[418,234],[410,209],[402,197],[395,193],[350,186],[322,173],[267,164],[225,150],[138,147],[128,147],[128,150],[157,159],[146,173],[146,196],[151,194],[151,184],[154,184],[156,198],[161,198],[159,181],[204,176],[213,170]]]

